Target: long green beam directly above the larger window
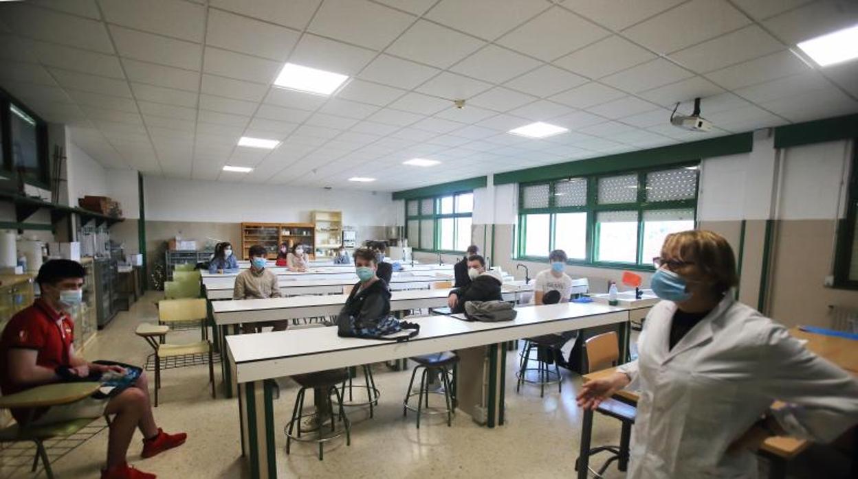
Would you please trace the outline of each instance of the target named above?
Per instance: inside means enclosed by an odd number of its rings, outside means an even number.
[[[597,158],[537,166],[494,175],[494,184],[531,183],[566,177],[598,175],[615,171],[640,170],[656,166],[678,165],[695,159],[747,153],[752,150],[753,134],[720,136],[667,147],[619,153]],[[394,196],[396,199],[396,196]]]

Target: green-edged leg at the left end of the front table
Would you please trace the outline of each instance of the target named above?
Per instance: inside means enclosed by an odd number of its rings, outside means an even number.
[[[274,425],[274,381],[239,384],[239,414],[245,459],[253,479],[277,477]]]

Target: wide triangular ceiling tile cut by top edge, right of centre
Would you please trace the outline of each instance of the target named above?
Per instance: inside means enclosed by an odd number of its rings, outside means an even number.
[[[563,6],[613,30],[622,30],[639,21],[646,20],[685,0],[614,0],[592,2],[590,0],[565,0]]]

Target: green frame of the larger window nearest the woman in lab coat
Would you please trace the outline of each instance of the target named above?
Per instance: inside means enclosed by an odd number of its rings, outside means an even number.
[[[614,171],[611,173],[598,174],[598,175],[588,175],[588,176],[579,176],[579,177],[565,177],[559,178],[552,181],[542,181],[535,183],[520,183],[519,191],[518,191],[518,228],[517,234],[515,235],[515,248],[513,251],[515,253],[515,257],[517,260],[533,260],[533,261],[544,261],[547,259],[548,252],[552,249],[555,249],[557,245],[557,224],[558,224],[558,215],[562,213],[586,213],[586,226],[584,228],[584,254],[583,258],[570,258],[567,260],[567,263],[570,265],[579,265],[579,266],[596,266],[596,267],[613,267],[613,268],[621,268],[621,269],[631,269],[631,270],[644,270],[644,271],[652,271],[654,270],[654,266],[652,265],[651,257],[644,257],[644,226],[646,224],[646,220],[644,217],[648,214],[656,214],[655,212],[685,212],[687,210],[691,210],[692,219],[694,221],[694,227],[697,227],[697,207],[698,207],[698,194],[700,189],[700,170],[699,170],[700,161],[694,161],[679,165],[671,165],[670,167],[660,166],[656,168],[647,168],[647,169],[638,169],[632,171]],[[664,200],[664,201],[648,201],[647,195],[648,191],[651,189],[657,188],[659,186],[664,186],[662,184],[656,184],[655,181],[650,181],[650,175],[653,173],[660,172],[669,172],[669,171],[680,171],[680,170],[688,170],[694,171],[694,193],[693,197],[679,199],[679,200]],[[599,201],[599,184],[601,179],[619,179],[619,177],[630,177],[633,176],[634,179],[631,180],[634,184],[628,184],[628,188],[636,188],[637,192],[631,195],[631,198],[619,198],[617,202],[600,202]],[[657,175],[652,175],[652,177],[657,177]],[[628,178],[625,178],[628,180]],[[575,206],[560,206],[559,205],[559,195],[557,195],[558,185],[562,182],[569,182],[571,180],[577,180],[578,184],[581,182],[585,182],[586,184],[586,200],[579,201],[581,204],[576,204]],[[650,184],[651,183],[651,184]],[[533,207],[535,201],[530,201],[529,203],[525,201],[525,195],[527,195],[528,191],[534,191],[533,189],[529,189],[531,187],[540,187],[541,191],[545,191],[547,187],[547,206],[539,206]],[[607,188],[606,188],[607,192]],[[580,194],[579,194],[580,196]],[[622,195],[620,195],[622,196]],[[546,201],[544,197],[541,197],[541,205],[545,205]],[[566,203],[570,203],[566,201]],[[635,234],[635,260],[633,262],[625,262],[625,261],[617,261],[617,260],[599,260],[598,252],[599,252],[599,240],[600,240],[600,228],[601,225],[598,221],[598,217],[600,213],[614,213],[614,215],[620,213],[634,213],[637,216],[637,229]],[[650,212],[650,213],[647,213]],[[545,254],[526,254],[527,248],[527,237],[528,237],[528,217],[529,215],[534,214],[548,214],[548,248],[545,250]],[[541,218],[541,223],[544,224],[544,218]],[[568,252],[567,252],[568,253]]]

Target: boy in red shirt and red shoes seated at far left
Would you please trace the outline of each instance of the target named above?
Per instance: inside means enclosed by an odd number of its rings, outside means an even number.
[[[39,268],[41,296],[9,320],[0,337],[0,391],[26,391],[34,386],[85,378],[100,373],[124,373],[119,366],[87,362],[75,353],[75,324],[67,310],[82,301],[86,271],[73,260],[49,260]],[[155,423],[148,380],[141,374],[132,386],[113,398],[86,398],[51,408],[12,410],[20,423],[32,425],[116,415],[107,437],[107,464],[102,479],[154,479],[125,460],[135,429],[143,435],[142,458],[181,446],[187,434],[166,434]]]

